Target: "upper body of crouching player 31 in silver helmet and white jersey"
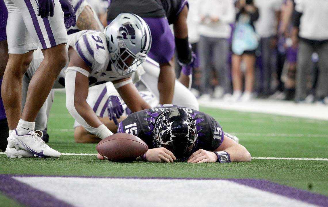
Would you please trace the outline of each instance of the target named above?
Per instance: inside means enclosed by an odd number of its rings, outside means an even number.
[[[65,85],[66,107],[88,132],[101,139],[113,134],[86,102],[88,88],[93,85],[112,82],[133,112],[151,107],[139,95],[131,79],[137,66],[146,60],[150,47],[148,25],[129,13],[119,14],[104,32],[84,30],[69,38],[69,63],[56,84]],[[12,152],[8,149],[6,155],[28,157],[24,150]]]

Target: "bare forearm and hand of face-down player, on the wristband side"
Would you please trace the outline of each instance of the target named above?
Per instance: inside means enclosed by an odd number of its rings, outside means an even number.
[[[231,162],[249,162],[252,160],[251,154],[244,146],[236,143],[227,136],[224,136],[222,144],[215,150],[215,152],[227,152],[230,156]],[[188,158],[188,162],[217,162],[218,154],[215,152],[199,149]]]

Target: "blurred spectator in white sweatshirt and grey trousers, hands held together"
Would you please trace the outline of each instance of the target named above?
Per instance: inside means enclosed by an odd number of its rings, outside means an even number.
[[[209,97],[209,74],[211,61],[214,60],[216,76],[225,93],[230,92],[227,75],[227,54],[229,51],[228,38],[231,35],[230,23],[236,18],[233,0],[203,0],[198,5],[199,16],[199,41],[198,52],[200,59],[201,93]]]

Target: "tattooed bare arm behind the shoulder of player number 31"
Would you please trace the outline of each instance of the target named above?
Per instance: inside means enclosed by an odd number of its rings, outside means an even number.
[[[101,30],[89,6],[86,6],[81,12],[76,21],[76,26],[80,30]]]

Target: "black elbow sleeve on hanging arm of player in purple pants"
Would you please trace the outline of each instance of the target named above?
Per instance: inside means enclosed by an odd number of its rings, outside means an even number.
[[[175,37],[175,47],[178,55],[178,61],[184,65],[190,64],[192,60],[192,54],[188,37],[184,39]]]

